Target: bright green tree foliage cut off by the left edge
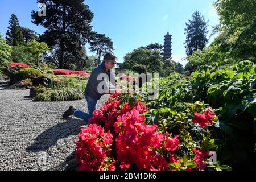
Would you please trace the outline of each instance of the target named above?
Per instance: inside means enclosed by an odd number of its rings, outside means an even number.
[[[6,66],[10,62],[11,47],[6,44],[5,39],[0,34],[0,66]]]

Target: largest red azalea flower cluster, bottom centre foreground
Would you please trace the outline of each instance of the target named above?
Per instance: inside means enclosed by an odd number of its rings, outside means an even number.
[[[131,166],[139,170],[167,170],[168,162],[163,151],[175,152],[179,148],[179,136],[172,138],[168,133],[156,132],[157,126],[147,125],[144,119],[135,109],[117,118],[115,131],[119,132],[116,139],[119,167],[124,170]],[[135,155],[131,158],[131,154]]]

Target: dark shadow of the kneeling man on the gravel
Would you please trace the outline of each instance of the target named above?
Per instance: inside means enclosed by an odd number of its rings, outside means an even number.
[[[59,123],[36,137],[35,142],[31,146],[28,146],[26,151],[35,153],[46,151],[49,147],[53,146],[57,140],[67,138],[70,135],[78,135],[81,126],[85,125],[85,122],[81,119],[68,118],[64,121],[66,122]]]

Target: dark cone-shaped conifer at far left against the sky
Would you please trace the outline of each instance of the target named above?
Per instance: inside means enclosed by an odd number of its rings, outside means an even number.
[[[19,26],[19,20],[15,14],[11,15],[9,27],[6,32],[6,42],[9,46],[24,45],[24,38],[22,28]]]

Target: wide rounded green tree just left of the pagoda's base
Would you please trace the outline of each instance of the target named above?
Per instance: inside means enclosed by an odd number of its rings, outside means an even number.
[[[138,48],[124,57],[123,67],[132,69],[134,65],[143,64],[147,67],[147,72],[159,72],[163,66],[162,56],[159,51]]]

